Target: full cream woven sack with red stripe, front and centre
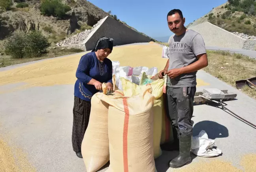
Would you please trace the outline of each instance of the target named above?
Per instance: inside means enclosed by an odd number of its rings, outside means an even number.
[[[133,97],[99,99],[109,104],[110,165],[107,172],[155,172],[153,152],[154,96],[151,86]]]

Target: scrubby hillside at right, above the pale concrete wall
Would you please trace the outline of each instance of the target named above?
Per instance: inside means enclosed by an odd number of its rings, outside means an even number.
[[[256,39],[256,1],[228,0],[187,27],[209,21],[245,39]],[[238,33],[237,33],[238,32]],[[247,34],[247,35],[244,35]]]

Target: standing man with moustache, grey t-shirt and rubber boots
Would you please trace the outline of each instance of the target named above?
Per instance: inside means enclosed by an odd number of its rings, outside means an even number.
[[[174,34],[169,38],[169,59],[159,78],[167,76],[166,96],[174,142],[162,145],[163,150],[179,150],[179,156],[169,166],[179,168],[192,162],[193,101],[196,92],[196,72],[208,65],[205,43],[201,35],[186,29],[185,18],[179,9],[169,11],[168,26]]]

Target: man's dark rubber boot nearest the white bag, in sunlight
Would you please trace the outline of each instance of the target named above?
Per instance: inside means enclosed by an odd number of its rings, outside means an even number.
[[[179,168],[192,162],[192,157],[190,155],[192,135],[179,136],[179,140],[179,155],[173,160],[169,161],[169,166],[171,168]]]

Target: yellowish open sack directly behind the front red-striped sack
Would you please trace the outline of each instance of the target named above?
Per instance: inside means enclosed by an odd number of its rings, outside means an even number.
[[[143,78],[142,78],[143,79]],[[124,78],[120,78],[120,81],[123,85],[123,93],[124,96],[134,96],[141,92],[141,90],[145,89],[147,85],[137,85],[129,80]],[[153,122],[153,140],[154,140],[154,159],[160,157],[162,155],[162,150],[160,148],[160,141],[162,135],[162,118],[164,107],[163,107],[163,97],[162,97],[162,87],[164,84],[163,79],[154,80],[150,85],[152,87],[152,95],[154,95],[154,122]]]

